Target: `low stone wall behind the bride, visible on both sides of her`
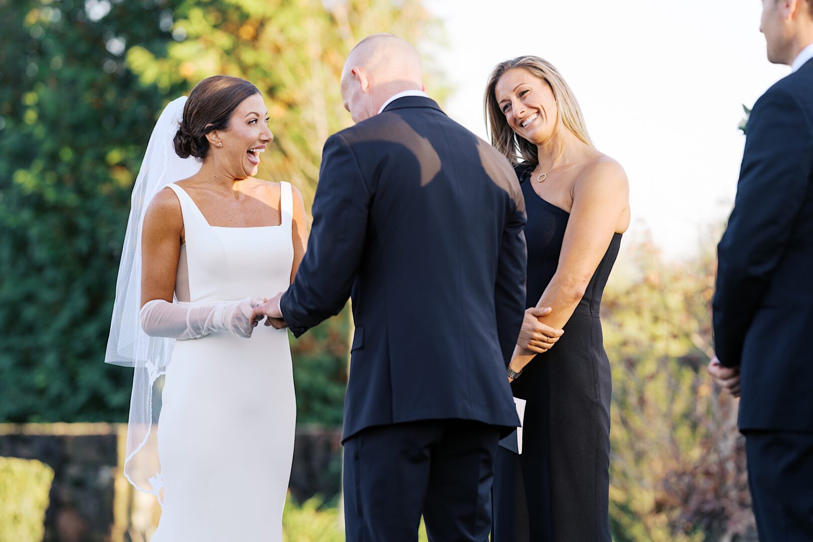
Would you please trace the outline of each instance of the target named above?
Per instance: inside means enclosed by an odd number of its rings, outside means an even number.
[[[124,479],[127,427],[111,423],[0,424],[0,456],[54,469],[44,542],[146,542],[160,517],[155,499]],[[341,483],[341,431],[297,430],[290,492],[332,499]]]

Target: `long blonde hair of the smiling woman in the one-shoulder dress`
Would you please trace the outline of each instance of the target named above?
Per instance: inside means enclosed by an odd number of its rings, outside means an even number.
[[[497,102],[494,89],[498,80],[505,72],[515,68],[522,68],[531,75],[545,81],[550,90],[553,91],[556,109],[559,111],[556,128],[561,129],[564,126],[581,141],[592,147],[593,141],[590,140],[587,133],[579,102],[576,101],[576,96],[573,95],[570,85],[567,85],[567,82],[553,64],[532,55],[519,56],[499,63],[489,76],[489,82],[485,85],[483,109],[485,110],[485,121],[491,138],[491,145],[504,154],[514,165],[522,162],[535,167],[539,162],[537,145],[514,133],[514,130],[508,125],[506,116],[500,109],[500,104]]]

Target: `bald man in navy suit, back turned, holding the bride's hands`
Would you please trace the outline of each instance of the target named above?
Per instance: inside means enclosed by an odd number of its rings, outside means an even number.
[[[424,93],[410,44],[367,37],[324,145],[288,291],[255,310],[301,336],[353,299],[347,540],[488,540],[493,457],[519,423],[506,365],[525,302],[524,201],[506,158]],[[281,314],[280,314],[281,311]]]

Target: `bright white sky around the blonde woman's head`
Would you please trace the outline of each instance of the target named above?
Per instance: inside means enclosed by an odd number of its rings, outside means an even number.
[[[717,241],[708,228],[733,206],[741,104],[753,106],[790,72],[767,62],[759,0],[427,4],[446,24],[449,49],[433,62],[454,85],[452,118],[485,138],[482,94],[493,66],[541,56],[576,93],[598,149],[627,171],[630,236],[648,228],[673,258]]]

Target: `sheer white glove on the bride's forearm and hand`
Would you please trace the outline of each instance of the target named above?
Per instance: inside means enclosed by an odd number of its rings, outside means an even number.
[[[248,339],[257,325],[251,322],[251,313],[262,303],[262,297],[223,303],[154,299],[141,307],[141,328],[149,336],[172,339],[197,339],[215,332],[232,332]]]

